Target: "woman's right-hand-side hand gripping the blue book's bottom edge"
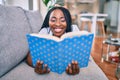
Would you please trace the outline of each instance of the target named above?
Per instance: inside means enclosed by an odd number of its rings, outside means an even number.
[[[79,65],[77,61],[72,61],[71,64],[68,64],[66,68],[66,73],[70,75],[79,74]]]

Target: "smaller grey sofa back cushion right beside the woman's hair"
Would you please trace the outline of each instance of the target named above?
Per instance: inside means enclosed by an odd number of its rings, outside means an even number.
[[[40,11],[25,11],[26,17],[29,21],[32,32],[39,32],[43,23],[43,18]]]

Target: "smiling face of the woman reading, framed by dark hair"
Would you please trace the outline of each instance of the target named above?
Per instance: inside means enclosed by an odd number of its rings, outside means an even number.
[[[61,37],[67,28],[65,16],[60,9],[54,10],[49,19],[49,26],[54,36]]]

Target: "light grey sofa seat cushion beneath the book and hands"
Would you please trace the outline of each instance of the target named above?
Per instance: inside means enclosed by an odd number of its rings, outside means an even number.
[[[81,68],[78,75],[57,74],[50,72],[49,74],[38,75],[34,72],[34,68],[22,62],[19,66],[7,73],[1,80],[108,80],[103,71],[91,58],[88,67]]]

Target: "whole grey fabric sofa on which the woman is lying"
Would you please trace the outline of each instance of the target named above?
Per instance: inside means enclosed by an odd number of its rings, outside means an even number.
[[[88,67],[78,75],[35,73],[26,63],[26,34],[39,32],[42,22],[40,11],[0,5],[0,80],[108,80],[91,56]]]

